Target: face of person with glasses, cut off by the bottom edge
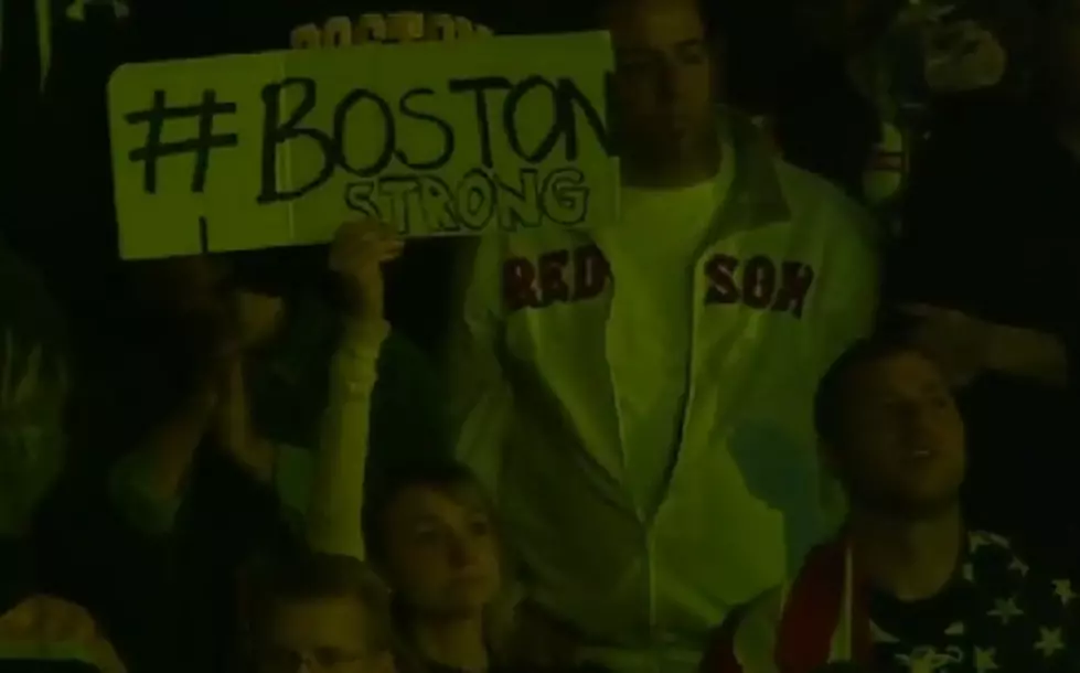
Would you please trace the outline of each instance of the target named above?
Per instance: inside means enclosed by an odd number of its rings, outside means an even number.
[[[352,597],[282,600],[268,616],[259,673],[394,673],[394,656]]]

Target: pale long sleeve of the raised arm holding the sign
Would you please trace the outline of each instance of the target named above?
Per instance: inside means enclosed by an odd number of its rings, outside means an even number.
[[[306,517],[308,544],[317,552],[364,559],[360,512],[371,437],[372,394],[385,322],[345,330],[330,373],[330,404],[316,458]],[[404,423],[404,419],[402,419]]]

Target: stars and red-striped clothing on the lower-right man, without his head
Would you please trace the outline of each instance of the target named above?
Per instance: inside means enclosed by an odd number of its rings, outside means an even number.
[[[865,581],[846,532],[717,630],[702,673],[1080,673],[1080,596],[1009,542],[966,534],[933,598],[901,602]]]

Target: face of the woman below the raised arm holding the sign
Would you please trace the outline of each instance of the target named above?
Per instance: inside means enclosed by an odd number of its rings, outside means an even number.
[[[472,489],[410,487],[393,501],[385,523],[388,575],[410,610],[470,616],[499,591],[499,543]]]

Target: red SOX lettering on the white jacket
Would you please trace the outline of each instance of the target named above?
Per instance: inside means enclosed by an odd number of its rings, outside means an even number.
[[[763,255],[751,257],[745,265],[737,257],[716,255],[705,264],[705,303],[742,303],[802,318],[814,269],[801,261],[778,265]]]

